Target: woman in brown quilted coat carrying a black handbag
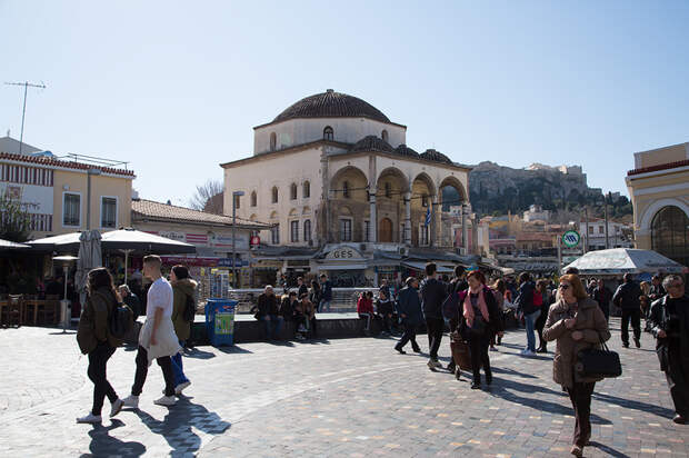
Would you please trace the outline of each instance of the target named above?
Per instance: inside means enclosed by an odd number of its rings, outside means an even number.
[[[598,347],[610,338],[606,316],[595,300],[589,299],[579,276],[560,278],[560,299],[550,307],[543,329],[547,341],[557,340],[553,358],[553,379],[569,394],[575,409],[575,434],[571,454],[580,457],[591,437],[591,395],[602,378],[580,377],[576,370],[577,354]]]

